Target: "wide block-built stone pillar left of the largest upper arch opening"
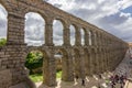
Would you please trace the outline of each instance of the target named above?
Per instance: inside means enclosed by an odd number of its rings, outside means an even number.
[[[25,19],[21,14],[8,14],[8,37],[7,42],[12,44],[24,44],[24,22]]]

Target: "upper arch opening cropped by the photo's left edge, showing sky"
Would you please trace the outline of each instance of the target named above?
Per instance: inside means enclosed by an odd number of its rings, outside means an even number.
[[[0,46],[4,46],[8,42],[8,11],[1,3],[0,3],[0,29],[1,29],[0,41],[2,41],[2,45]]]

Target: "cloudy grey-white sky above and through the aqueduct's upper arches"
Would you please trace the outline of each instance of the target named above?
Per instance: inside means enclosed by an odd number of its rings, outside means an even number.
[[[116,36],[132,42],[132,0],[45,0],[46,2],[82,20],[90,22]],[[0,7],[0,37],[6,36],[7,12]],[[25,42],[44,43],[44,20],[37,13],[25,15]],[[73,26],[72,26],[73,28]],[[63,29],[59,21],[54,22],[54,43],[62,44]],[[73,28],[74,29],[74,28]],[[37,30],[37,31],[35,31]],[[74,30],[72,31],[74,32]],[[41,33],[41,34],[40,34]],[[74,37],[74,33],[73,33]],[[75,38],[73,38],[74,41]]]

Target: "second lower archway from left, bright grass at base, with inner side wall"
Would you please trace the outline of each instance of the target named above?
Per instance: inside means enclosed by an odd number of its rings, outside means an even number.
[[[56,58],[56,79],[57,81],[59,79],[67,80],[68,76],[68,53],[66,50],[58,50],[55,55],[57,55]]]

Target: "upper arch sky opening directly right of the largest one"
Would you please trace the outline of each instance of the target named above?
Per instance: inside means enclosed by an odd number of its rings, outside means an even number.
[[[53,21],[53,43],[55,46],[63,45],[63,22],[61,20]]]

